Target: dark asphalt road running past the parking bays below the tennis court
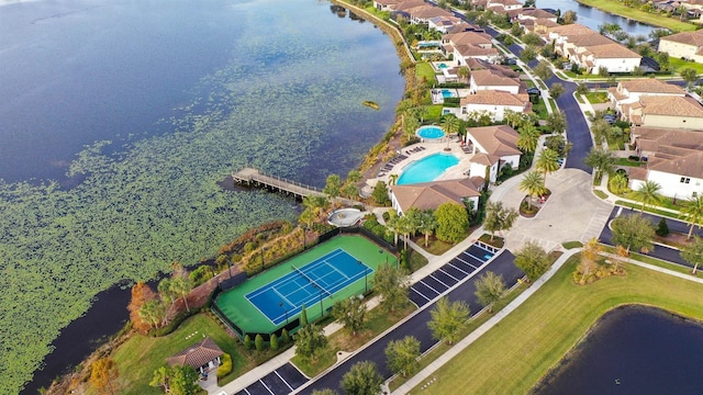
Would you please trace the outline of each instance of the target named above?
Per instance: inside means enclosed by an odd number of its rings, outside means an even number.
[[[520,269],[513,263],[514,256],[510,251],[504,250],[499,257],[494,258],[487,267],[479,271],[479,275],[492,271],[496,274],[501,274],[507,287],[511,287],[517,282],[517,279],[523,276]],[[481,306],[477,302],[477,297],[473,294],[476,292],[475,281],[479,278],[475,275],[458,287],[448,293],[449,301],[465,301],[469,304],[471,312],[479,312]],[[377,371],[384,377],[389,379],[392,374],[386,366],[386,347],[389,341],[399,340],[405,336],[414,336],[420,340],[421,352],[425,352],[436,340],[432,338],[432,332],[427,328],[427,323],[431,320],[431,309],[435,303],[427,305],[425,309],[417,313],[415,316],[397,327],[394,330],[388,332],[378,341],[373,342],[366,349],[361,350],[354,357],[347,359],[344,363],[327,372],[322,377],[312,382],[312,384],[300,392],[300,394],[311,394],[315,390],[331,388],[342,393],[339,383],[342,376],[349,371],[352,365],[361,361],[372,361],[377,365]]]

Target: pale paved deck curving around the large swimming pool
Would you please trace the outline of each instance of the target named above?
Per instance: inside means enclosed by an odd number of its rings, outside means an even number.
[[[393,166],[392,170],[379,172],[378,177],[369,179],[367,181],[367,187],[372,190],[373,187],[376,187],[376,183],[378,181],[383,181],[383,182],[386,182],[386,184],[390,184],[389,181],[390,181],[390,176],[391,174],[398,174],[400,177],[400,174],[403,172],[403,169],[408,165],[414,162],[415,160],[420,160],[420,159],[426,158],[426,157],[428,157],[431,155],[434,155],[434,154],[437,154],[437,153],[454,154],[457,158],[459,158],[459,163],[448,168],[435,181],[439,181],[439,180],[457,180],[457,179],[467,178],[468,176],[466,174],[466,172],[469,171],[469,168],[471,167],[470,160],[473,157],[473,154],[466,154],[461,149],[461,145],[458,143],[458,137],[450,137],[450,139],[451,140],[449,142],[449,145],[448,145],[449,148],[450,148],[450,151],[446,151],[445,150],[445,148],[447,148],[447,138],[446,137],[437,139],[437,140],[433,140],[433,142],[423,142],[423,143],[410,145],[408,147],[403,147],[403,149],[400,150],[399,154],[400,155],[404,155],[408,158],[397,162]],[[412,150],[414,148],[416,148],[416,147],[424,147],[424,149],[413,153]],[[365,188],[367,188],[367,187],[365,187]]]

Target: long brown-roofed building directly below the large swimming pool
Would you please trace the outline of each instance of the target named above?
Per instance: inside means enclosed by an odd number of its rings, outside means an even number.
[[[473,202],[473,207],[479,206],[479,192],[483,189],[481,177],[464,178],[458,180],[440,180],[416,184],[392,185],[391,203],[398,214],[402,215],[410,207],[421,211],[435,210],[444,203],[455,202],[467,204]]]

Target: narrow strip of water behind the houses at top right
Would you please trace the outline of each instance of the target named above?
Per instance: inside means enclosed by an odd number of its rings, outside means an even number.
[[[635,36],[641,34],[648,37],[649,32],[657,29],[627,18],[613,15],[599,9],[580,4],[573,0],[537,0],[537,7],[561,10],[561,13],[576,11],[578,16],[577,23],[589,26],[596,32],[599,31],[599,26],[604,23],[617,23],[623,32]]]

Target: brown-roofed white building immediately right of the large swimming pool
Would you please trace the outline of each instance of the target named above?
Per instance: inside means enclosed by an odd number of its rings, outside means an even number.
[[[473,154],[469,176],[488,177],[495,182],[500,170],[520,167],[521,150],[515,143],[517,132],[507,125],[470,127],[465,136],[468,153]]]

